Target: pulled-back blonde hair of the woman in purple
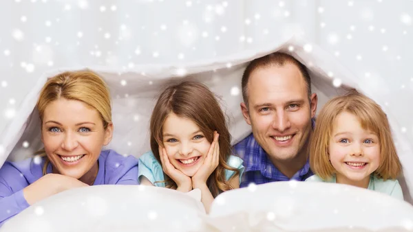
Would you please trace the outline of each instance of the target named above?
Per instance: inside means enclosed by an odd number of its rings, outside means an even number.
[[[112,122],[109,88],[105,81],[92,71],[66,71],[47,80],[40,91],[39,100],[36,104],[42,127],[45,108],[51,102],[61,98],[81,101],[87,106],[96,109],[105,129]],[[37,154],[44,156],[45,152],[42,150],[37,152]],[[49,160],[46,156],[43,174],[46,173],[48,163]]]

